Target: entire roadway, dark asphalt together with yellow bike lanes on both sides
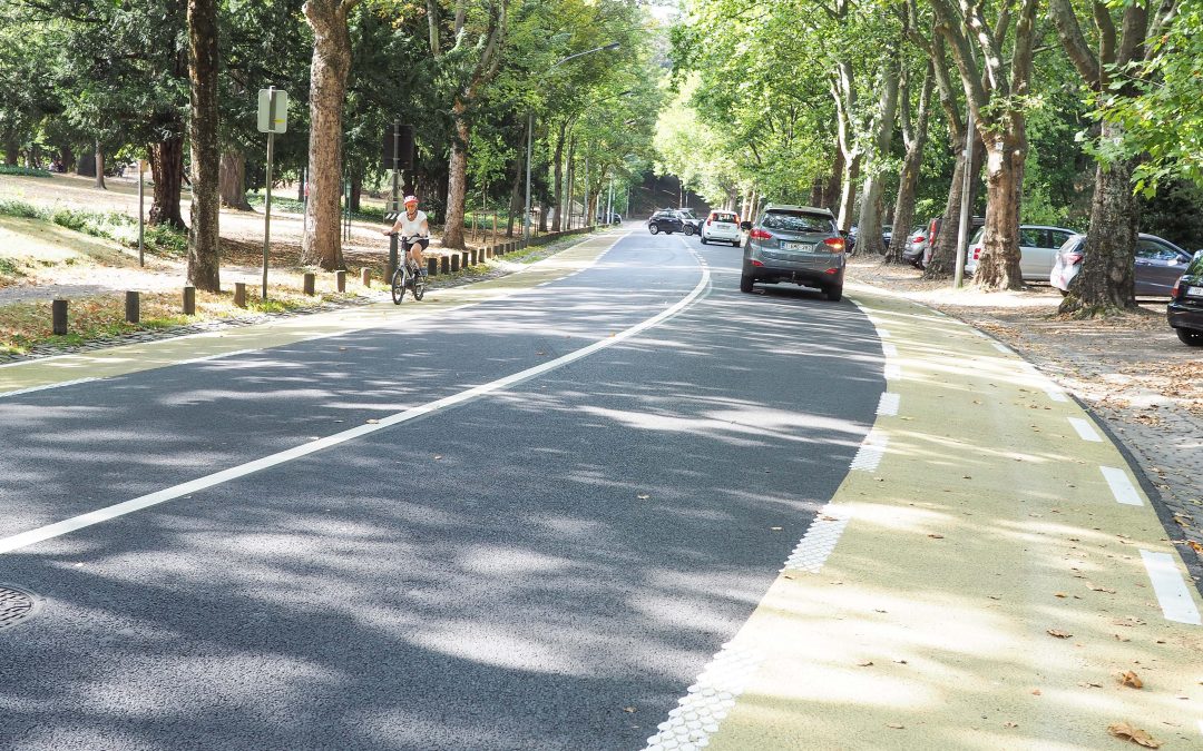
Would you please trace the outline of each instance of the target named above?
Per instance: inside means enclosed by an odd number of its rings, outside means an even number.
[[[0,369],[0,583],[41,606],[0,747],[1203,741],[1198,595],[1089,416],[739,257],[628,222],[420,305]]]

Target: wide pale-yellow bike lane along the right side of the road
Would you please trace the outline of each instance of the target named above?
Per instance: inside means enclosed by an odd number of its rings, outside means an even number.
[[[851,297],[873,430],[647,747],[1203,747],[1203,602],[1121,449],[978,330]]]

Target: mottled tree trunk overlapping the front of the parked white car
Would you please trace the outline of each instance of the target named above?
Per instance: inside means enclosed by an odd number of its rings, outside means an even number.
[[[986,207],[982,257],[973,280],[986,290],[1023,290],[1019,270],[1019,208],[1026,142],[1023,119],[1012,114],[1011,132],[991,133],[985,154]]]

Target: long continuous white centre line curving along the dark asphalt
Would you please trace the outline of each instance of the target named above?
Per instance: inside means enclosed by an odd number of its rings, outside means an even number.
[[[358,425],[356,428],[351,428],[350,430],[343,430],[342,433],[336,433],[333,435],[318,439],[316,441],[309,441],[308,443],[295,446],[286,451],[282,451],[279,453],[263,457],[262,459],[255,459],[254,461],[239,464],[238,466],[233,466],[227,470],[221,470],[220,472],[214,472],[213,475],[207,475],[205,477],[180,483],[178,485],[173,485],[164,490],[158,490],[148,495],[142,495],[136,499],[131,499],[129,501],[123,501],[120,503],[115,503],[106,508],[99,508],[96,511],[81,514],[78,517],[64,519],[63,521],[57,521],[54,524],[48,524],[46,526],[35,530],[29,530],[26,532],[20,532],[18,535],[12,535],[11,537],[0,538],[0,555],[5,553],[12,553],[13,550],[19,550],[20,548],[25,548],[28,546],[38,542],[52,540],[54,537],[60,537],[63,535],[67,535],[76,530],[93,526],[94,524],[108,521],[111,519],[115,519],[117,517],[123,517],[125,514],[134,513],[135,511],[149,508],[150,506],[156,506],[159,503],[178,499],[183,495],[189,495],[192,493],[197,493],[200,490],[205,490],[207,488],[212,488],[214,485],[220,485],[221,483],[226,483],[232,479],[237,479],[239,477],[245,477],[247,475],[251,475],[254,472],[259,472],[268,467],[285,464],[295,459],[301,459],[302,457],[308,457],[309,454],[314,454],[320,451],[325,451],[327,448],[333,448],[334,446],[345,443],[348,441],[352,441],[365,435],[369,435],[378,430],[384,430],[385,428],[391,428],[392,425],[409,422],[411,419],[416,419],[419,417],[423,417],[426,415],[445,410],[448,407],[462,404],[464,401],[470,401],[479,397],[484,397],[485,394],[491,394],[494,392],[503,391],[522,381],[527,381],[535,376],[543,375],[549,370],[555,370],[569,363],[576,362],[581,358],[588,357],[589,354],[593,354],[599,350],[614,346],[620,341],[630,339],[632,336],[635,336],[639,333],[648,328],[652,328],[653,326],[657,326],[665,318],[669,318],[676,315],[677,312],[685,310],[686,308],[688,308],[695,299],[698,299],[698,297],[703,292],[705,292],[709,285],[710,285],[710,270],[703,267],[701,280],[689,292],[689,294],[680,299],[675,305],[672,305],[668,310],[656,314],[650,318],[645,318],[644,321],[636,323],[635,326],[632,326],[630,328],[623,329],[611,336],[595,341],[588,345],[587,347],[581,347],[580,350],[569,352],[568,354],[564,354],[562,357],[557,357],[553,360],[549,360],[540,365],[535,365],[534,368],[527,368],[526,370],[515,372],[512,375],[508,375],[504,379],[498,379],[488,383],[482,383],[480,386],[460,392],[458,394],[444,397],[443,399],[438,399],[435,401],[431,401],[429,404],[423,404],[421,406],[405,410],[404,412],[396,412],[393,415],[389,415],[387,417],[383,417],[374,423],[367,423],[363,425]]]

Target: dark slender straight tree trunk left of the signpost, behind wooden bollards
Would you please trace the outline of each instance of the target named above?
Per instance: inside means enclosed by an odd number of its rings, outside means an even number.
[[[188,68],[192,168],[191,227],[188,233],[188,281],[198,290],[221,290],[218,190],[218,8],[217,0],[188,0]]]

